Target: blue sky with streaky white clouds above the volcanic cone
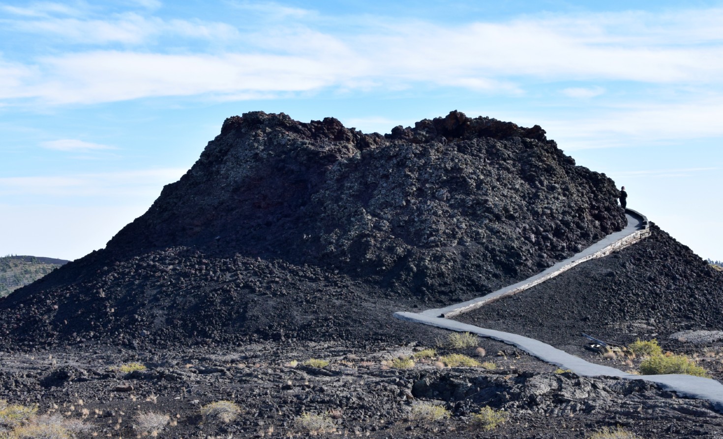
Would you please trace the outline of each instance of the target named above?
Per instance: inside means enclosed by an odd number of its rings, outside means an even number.
[[[540,125],[723,259],[723,1],[0,2],[0,256],[103,248],[247,111]]]

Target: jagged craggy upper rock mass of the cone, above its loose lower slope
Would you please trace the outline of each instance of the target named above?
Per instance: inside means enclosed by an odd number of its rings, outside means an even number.
[[[453,112],[380,136],[247,113],[108,248],[193,245],[412,291],[484,290],[620,230],[616,196],[539,126]]]

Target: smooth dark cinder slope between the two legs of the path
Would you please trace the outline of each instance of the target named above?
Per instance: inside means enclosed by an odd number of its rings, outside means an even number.
[[[623,370],[635,370],[640,359],[592,354],[581,334],[617,344],[655,338],[666,350],[698,358],[723,381],[722,337],[686,336],[723,329],[723,273],[656,225],[651,231],[640,243],[455,319],[531,336]]]

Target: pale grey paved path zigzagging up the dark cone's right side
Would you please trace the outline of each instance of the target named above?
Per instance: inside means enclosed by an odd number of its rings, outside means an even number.
[[[394,313],[394,316],[395,318],[405,321],[424,323],[430,326],[436,326],[437,328],[450,329],[451,331],[471,332],[472,334],[513,344],[515,347],[528,352],[530,355],[538,357],[544,362],[557,365],[557,367],[562,369],[570,369],[578,375],[616,376],[628,380],[645,380],[658,383],[663,388],[670,391],[676,391],[682,396],[707,399],[711,401],[711,404],[713,404],[716,410],[723,412],[723,384],[710,378],[677,374],[632,375],[609,366],[596,365],[594,363],[587,362],[580,357],[570,355],[561,349],[557,349],[556,347],[552,347],[549,344],[540,342],[536,339],[512,334],[510,332],[484,329],[479,326],[448,319],[450,316],[456,316],[466,311],[473,310],[474,308],[479,308],[480,306],[500,299],[501,297],[514,295],[518,292],[527,290],[528,288],[555,277],[557,274],[567,271],[568,269],[573,268],[573,266],[581,264],[584,261],[606,256],[609,253],[612,253],[612,251],[625,248],[628,245],[636,243],[650,235],[648,220],[646,217],[631,209],[626,209],[626,214],[628,216],[628,227],[625,227],[625,230],[607,235],[607,237],[603,238],[598,243],[591,245],[589,248],[586,248],[584,251],[581,251],[572,258],[558,262],[549,269],[542,271],[542,273],[536,274],[529,279],[510,285],[509,287],[502,288],[501,290],[492,292],[489,295],[477,297],[475,299],[450,305],[445,308],[434,308],[422,311],[421,313],[398,312]]]

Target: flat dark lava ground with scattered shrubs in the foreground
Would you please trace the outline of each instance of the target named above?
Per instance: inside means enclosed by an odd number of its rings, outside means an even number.
[[[424,331],[427,339],[445,337]],[[5,353],[0,399],[81,420],[90,430],[79,438],[589,438],[615,425],[640,438],[720,438],[723,431],[723,415],[706,401],[677,398],[643,381],[556,373],[508,345],[479,344],[484,357],[474,347],[437,347],[437,356],[463,353],[494,363],[494,370],[445,368],[438,357],[393,367],[391,360],[419,352],[422,343],[350,349],[343,342],[263,342],[151,352],[89,345],[82,353]],[[329,365],[304,365],[310,358]],[[135,363],[145,370],[120,370]],[[215,401],[237,404],[238,417],[204,417],[202,407]],[[420,419],[429,404],[449,417]],[[474,422],[482,407],[509,418],[485,430]],[[304,422],[304,413],[320,417]],[[149,414],[160,419],[155,427]],[[324,431],[310,431],[318,427]]]

